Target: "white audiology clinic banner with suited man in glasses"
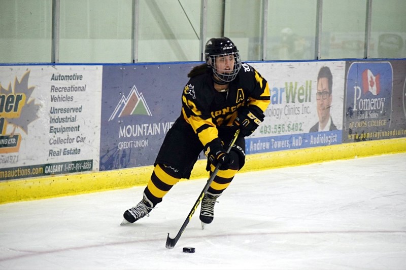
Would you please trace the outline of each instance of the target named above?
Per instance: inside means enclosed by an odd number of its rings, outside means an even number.
[[[342,142],[345,61],[252,65],[268,81],[270,104],[247,153]]]

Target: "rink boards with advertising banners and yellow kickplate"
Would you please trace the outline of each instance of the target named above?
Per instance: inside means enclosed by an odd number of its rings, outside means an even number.
[[[0,66],[0,203],[145,185],[198,64]],[[249,64],[271,104],[242,171],[406,151],[405,59]],[[324,66],[336,130],[315,132]]]

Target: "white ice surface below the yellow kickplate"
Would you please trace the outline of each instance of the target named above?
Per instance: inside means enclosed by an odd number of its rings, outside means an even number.
[[[237,174],[166,249],[205,182],[127,226],[144,187],[0,205],[0,269],[406,269],[406,153]]]

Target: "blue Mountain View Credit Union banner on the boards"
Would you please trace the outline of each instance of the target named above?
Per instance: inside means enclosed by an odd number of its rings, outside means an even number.
[[[100,171],[152,165],[181,113],[193,64],[108,65],[103,71]]]

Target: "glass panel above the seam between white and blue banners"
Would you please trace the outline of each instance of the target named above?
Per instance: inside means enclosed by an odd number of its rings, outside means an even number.
[[[131,0],[60,0],[59,62],[130,62],[131,7]]]

